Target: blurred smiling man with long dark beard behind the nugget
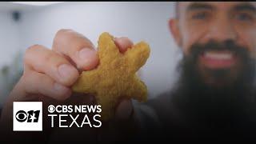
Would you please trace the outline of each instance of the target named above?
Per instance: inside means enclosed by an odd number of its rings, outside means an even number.
[[[255,138],[255,6],[178,2],[176,18],[169,24],[184,56],[181,78],[174,90],[148,104],[164,131],[154,135]],[[150,133],[154,114],[142,113],[148,116],[143,123]]]

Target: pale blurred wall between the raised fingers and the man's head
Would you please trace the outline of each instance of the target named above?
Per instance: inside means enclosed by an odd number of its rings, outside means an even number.
[[[170,88],[178,50],[168,29],[173,2],[77,2],[48,6],[22,15],[21,46],[51,47],[54,34],[62,28],[73,29],[97,46],[98,36],[108,31],[116,37],[150,43],[151,55],[142,69],[142,78],[151,97]]]

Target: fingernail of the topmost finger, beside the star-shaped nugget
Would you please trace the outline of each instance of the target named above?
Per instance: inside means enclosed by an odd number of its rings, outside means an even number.
[[[95,65],[97,61],[97,52],[96,50],[90,49],[90,48],[83,48],[78,53],[79,58],[82,60],[82,67],[87,68],[88,66]]]

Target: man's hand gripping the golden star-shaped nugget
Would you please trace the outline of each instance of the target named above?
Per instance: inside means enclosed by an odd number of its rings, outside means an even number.
[[[133,45],[129,38],[115,38],[115,44],[124,53]],[[14,86],[2,111],[2,122],[12,118],[14,101],[63,101],[72,99],[71,86],[83,70],[98,66],[98,55],[88,38],[73,30],[59,30],[52,50],[34,45],[26,50],[24,73]],[[87,96],[90,102],[93,98]],[[121,100],[116,118],[129,118],[133,111],[130,99]]]

